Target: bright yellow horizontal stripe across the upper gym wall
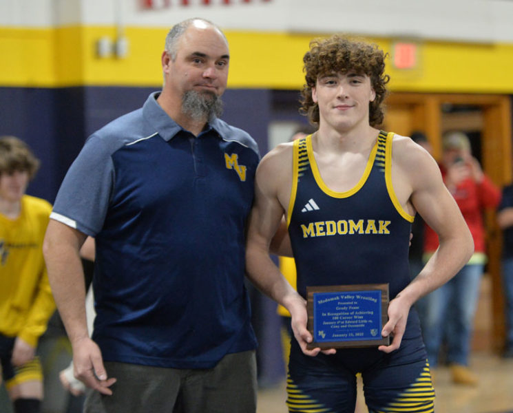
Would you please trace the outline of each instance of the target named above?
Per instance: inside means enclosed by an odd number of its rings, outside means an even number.
[[[0,28],[0,86],[160,86],[159,56],[169,28],[128,27],[126,59],[98,59],[96,42],[115,39],[114,26]],[[302,56],[317,36],[284,32],[227,31],[229,87],[299,89]],[[393,39],[368,39],[390,51]],[[401,92],[513,94],[513,44],[442,41],[419,43],[419,67],[397,70],[388,61],[390,89]]]

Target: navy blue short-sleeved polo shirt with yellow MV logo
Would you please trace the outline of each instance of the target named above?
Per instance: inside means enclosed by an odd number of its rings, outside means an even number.
[[[51,218],[96,238],[93,339],[106,361],[211,368],[256,346],[244,226],[260,156],[220,119],[193,136],[157,96],[90,136]]]

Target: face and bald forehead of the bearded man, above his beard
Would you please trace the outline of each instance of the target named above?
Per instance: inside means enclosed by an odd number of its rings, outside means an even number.
[[[224,36],[213,26],[196,21],[178,40],[174,60],[163,57],[165,87],[180,99],[189,91],[206,98],[221,96],[227,87],[228,67]]]

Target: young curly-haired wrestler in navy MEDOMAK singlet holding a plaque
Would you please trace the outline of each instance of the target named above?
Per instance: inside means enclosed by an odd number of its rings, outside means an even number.
[[[377,128],[388,82],[384,58],[375,45],[341,36],[311,42],[304,56],[302,109],[319,129],[273,149],[257,170],[247,270],[292,315],[291,412],[353,413],[358,372],[369,412],[434,409],[412,304],[457,273],[473,244],[432,157],[410,138]],[[440,246],[410,281],[408,241],[417,212],[435,229]],[[283,214],[299,294],[268,254]],[[388,322],[381,335],[392,337],[390,345],[308,350],[306,287],[373,283],[389,284]]]

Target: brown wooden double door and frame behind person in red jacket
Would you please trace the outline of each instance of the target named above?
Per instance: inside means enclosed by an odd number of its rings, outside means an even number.
[[[483,171],[499,187],[512,182],[512,112],[510,96],[470,94],[393,93],[386,100],[386,131],[409,136],[423,131],[433,148],[433,156],[441,156],[441,136],[448,130],[464,131],[470,136],[472,152]],[[485,289],[485,314],[490,337],[485,346],[499,350],[505,336],[503,288],[501,284],[501,230],[495,211],[485,213],[488,264]],[[489,293],[489,294],[488,294]],[[481,295],[483,299],[483,295]],[[481,307],[483,308],[483,303]],[[477,318],[480,314],[477,315]],[[477,336],[477,337],[476,337]],[[479,335],[474,335],[474,341]],[[481,336],[482,339],[482,336]],[[475,347],[483,343],[474,342]]]

